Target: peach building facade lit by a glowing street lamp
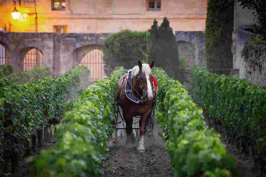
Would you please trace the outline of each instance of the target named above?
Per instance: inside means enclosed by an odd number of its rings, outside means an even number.
[[[35,32],[34,0],[0,0],[0,28]],[[11,12],[16,6],[19,19]],[[207,0],[36,0],[38,32],[146,31],[166,16],[174,31],[204,31]]]

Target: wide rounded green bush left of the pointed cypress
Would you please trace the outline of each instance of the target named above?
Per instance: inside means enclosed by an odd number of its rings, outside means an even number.
[[[149,60],[149,32],[124,29],[110,34],[104,41],[103,61],[105,72],[113,71],[116,66],[134,67],[136,61],[147,63]]]

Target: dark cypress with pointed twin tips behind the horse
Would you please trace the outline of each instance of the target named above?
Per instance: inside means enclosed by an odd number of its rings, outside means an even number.
[[[155,61],[156,67],[162,67],[169,77],[180,79],[180,68],[178,60],[178,46],[173,29],[169,20],[164,17],[163,23],[158,27],[156,19],[151,26],[150,35],[150,60]]]

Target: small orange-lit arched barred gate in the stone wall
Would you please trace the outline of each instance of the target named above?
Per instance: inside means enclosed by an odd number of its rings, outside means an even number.
[[[43,54],[38,49],[31,49],[24,57],[23,71],[32,70],[37,64],[43,64]]]

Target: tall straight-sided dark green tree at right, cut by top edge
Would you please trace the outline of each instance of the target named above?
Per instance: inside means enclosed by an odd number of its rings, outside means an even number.
[[[209,0],[206,19],[207,69],[216,74],[230,73],[234,31],[234,1]]]

